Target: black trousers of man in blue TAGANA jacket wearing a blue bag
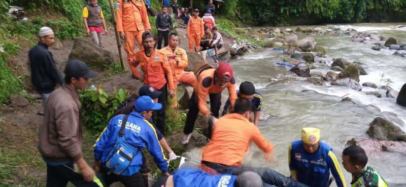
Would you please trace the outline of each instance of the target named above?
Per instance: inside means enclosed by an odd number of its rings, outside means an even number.
[[[140,171],[131,176],[116,175],[114,173],[108,175],[107,172],[108,170],[106,168],[101,167],[105,187],[109,187],[113,182],[121,182],[125,187],[145,187],[144,179]]]

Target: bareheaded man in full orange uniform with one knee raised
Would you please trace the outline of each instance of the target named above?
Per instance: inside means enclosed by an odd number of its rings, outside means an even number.
[[[166,55],[169,60],[169,64],[171,65],[175,91],[179,82],[190,84],[191,86],[193,86],[194,81],[196,81],[196,77],[194,76],[193,72],[184,71],[189,63],[187,60],[186,51],[182,48],[179,48],[178,44],[179,36],[177,33],[173,32],[169,34],[169,45],[161,49],[161,52]],[[178,106],[176,95],[174,99],[176,103],[171,107]]]

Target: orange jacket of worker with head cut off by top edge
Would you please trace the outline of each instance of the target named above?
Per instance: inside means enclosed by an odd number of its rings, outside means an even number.
[[[117,31],[151,30],[143,0],[117,0]]]

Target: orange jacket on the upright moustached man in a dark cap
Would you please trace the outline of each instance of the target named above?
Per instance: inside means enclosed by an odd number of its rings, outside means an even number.
[[[135,67],[141,66],[141,70],[144,72],[144,85],[149,84],[155,89],[160,89],[166,83],[166,75],[168,78],[168,89],[175,89],[169,61],[159,50],[154,50],[151,57],[147,57],[144,50],[139,51],[136,53],[132,63]],[[137,78],[141,77],[138,70],[134,71],[133,74]]]

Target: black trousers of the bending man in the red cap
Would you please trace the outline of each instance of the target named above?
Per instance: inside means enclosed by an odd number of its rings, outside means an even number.
[[[210,111],[213,116],[218,118],[221,107],[221,92],[217,94],[209,94],[210,98]],[[189,100],[189,111],[187,112],[186,124],[183,128],[183,133],[190,134],[194,128],[194,122],[196,122],[197,115],[199,114],[199,108],[197,104],[197,95],[193,91],[192,97]],[[209,133],[211,134],[211,127],[209,126]],[[210,136],[210,135],[209,135]]]

